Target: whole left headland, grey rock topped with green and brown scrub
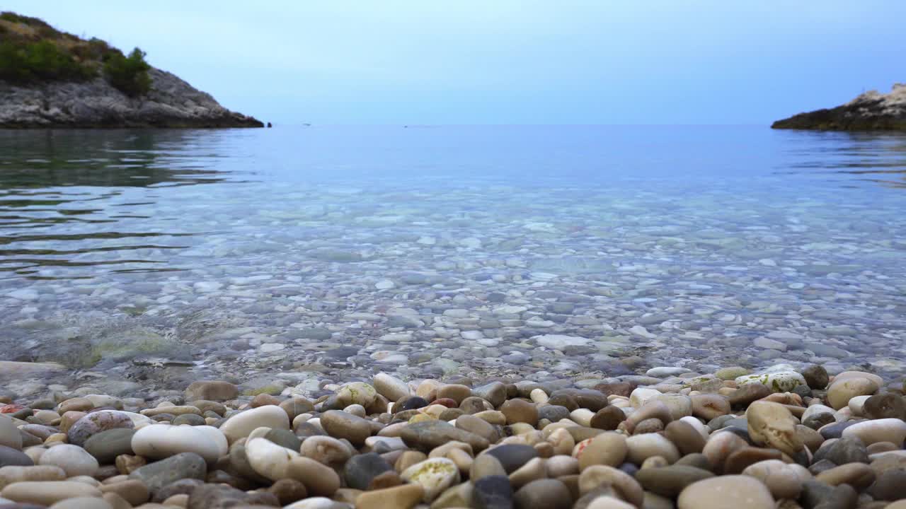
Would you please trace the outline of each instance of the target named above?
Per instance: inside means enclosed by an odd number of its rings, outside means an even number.
[[[0,13],[0,128],[264,127],[144,56]]]

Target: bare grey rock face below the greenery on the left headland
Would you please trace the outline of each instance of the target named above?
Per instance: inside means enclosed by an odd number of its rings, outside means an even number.
[[[264,127],[169,72],[151,68],[149,76],[149,93],[134,98],[100,77],[27,86],[0,81],[0,128]]]

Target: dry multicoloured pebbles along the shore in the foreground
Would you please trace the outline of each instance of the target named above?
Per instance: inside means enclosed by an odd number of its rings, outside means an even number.
[[[324,381],[2,397],[0,509],[906,507],[906,387],[864,371]]]

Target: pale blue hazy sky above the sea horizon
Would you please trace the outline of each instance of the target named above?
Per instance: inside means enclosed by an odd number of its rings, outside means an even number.
[[[906,82],[904,0],[2,0],[275,123],[767,124]]]

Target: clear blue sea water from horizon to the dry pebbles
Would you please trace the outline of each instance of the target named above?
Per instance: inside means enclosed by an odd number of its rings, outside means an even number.
[[[901,373],[904,212],[898,135],[0,131],[0,343],[10,360],[162,384]]]

